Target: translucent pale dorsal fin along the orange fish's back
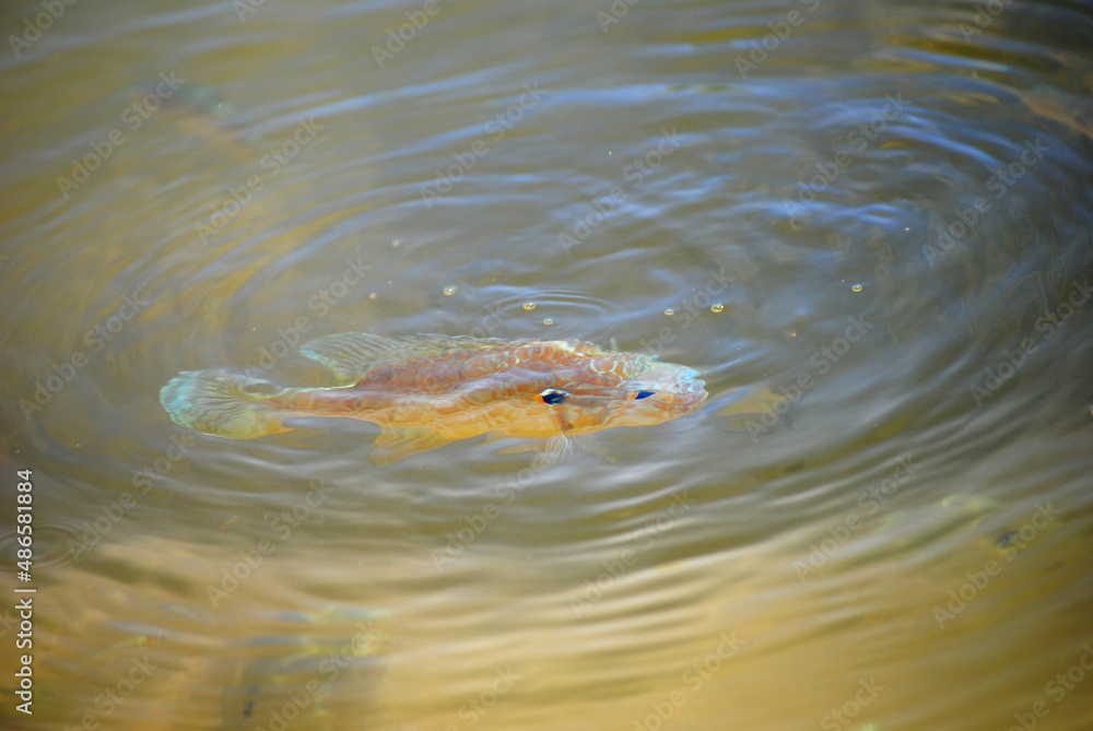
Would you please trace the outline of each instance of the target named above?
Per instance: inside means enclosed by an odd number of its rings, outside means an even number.
[[[497,339],[453,335],[402,335],[385,338],[367,332],[342,332],[313,340],[299,352],[315,358],[341,382],[357,382],[377,366],[406,363],[451,351],[487,350],[510,344]]]

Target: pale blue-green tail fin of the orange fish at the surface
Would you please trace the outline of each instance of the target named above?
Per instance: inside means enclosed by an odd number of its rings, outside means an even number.
[[[283,389],[228,370],[184,370],[160,390],[160,403],[179,426],[230,439],[289,432],[292,415],[271,403]]]

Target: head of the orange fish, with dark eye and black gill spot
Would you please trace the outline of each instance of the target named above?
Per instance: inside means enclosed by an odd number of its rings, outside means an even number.
[[[682,416],[708,396],[694,368],[635,356],[595,377],[575,376],[539,394],[567,434],[648,426]]]

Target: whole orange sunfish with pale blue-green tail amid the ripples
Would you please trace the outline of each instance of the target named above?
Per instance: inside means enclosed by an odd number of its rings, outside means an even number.
[[[293,417],[380,426],[383,464],[483,434],[546,438],[677,418],[707,397],[693,368],[580,340],[466,335],[326,335],[299,352],[337,386],[282,387],[223,368],[184,370],[160,391],[179,426],[232,439],[295,428]]]

